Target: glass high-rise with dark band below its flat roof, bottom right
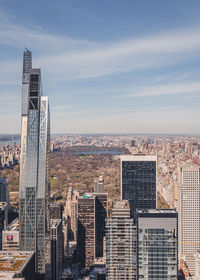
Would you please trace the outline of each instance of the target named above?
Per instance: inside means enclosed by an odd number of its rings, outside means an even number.
[[[178,213],[137,210],[137,279],[177,280]]]

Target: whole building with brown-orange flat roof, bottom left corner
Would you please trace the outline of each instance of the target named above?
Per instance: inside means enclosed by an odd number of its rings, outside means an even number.
[[[0,279],[35,280],[35,253],[0,251]]]

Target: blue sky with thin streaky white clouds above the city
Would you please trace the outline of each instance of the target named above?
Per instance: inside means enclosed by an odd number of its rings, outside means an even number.
[[[199,0],[0,0],[0,134],[21,130],[24,48],[52,133],[200,133]]]

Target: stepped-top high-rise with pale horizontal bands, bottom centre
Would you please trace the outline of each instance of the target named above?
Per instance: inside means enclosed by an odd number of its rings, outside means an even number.
[[[117,202],[106,220],[106,279],[136,279],[136,233],[128,201]]]

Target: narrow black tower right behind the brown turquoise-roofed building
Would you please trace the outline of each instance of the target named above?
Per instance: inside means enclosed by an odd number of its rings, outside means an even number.
[[[108,210],[108,194],[95,193],[95,257],[103,257],[103,240]]]

